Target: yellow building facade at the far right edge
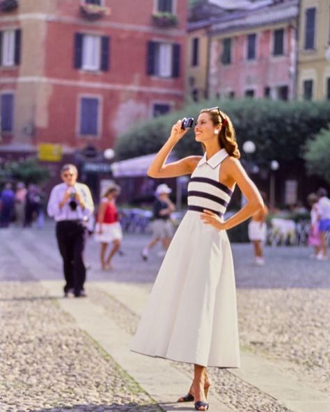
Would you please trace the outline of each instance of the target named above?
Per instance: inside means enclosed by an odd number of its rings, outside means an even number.
[[[330,0],[301,0],[297,97],[330,100]]]

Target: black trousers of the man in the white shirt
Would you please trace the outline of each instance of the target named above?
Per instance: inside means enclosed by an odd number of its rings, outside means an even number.
[[[84,264],[86,238],[87,229],[82,221],[56,223],[56,239],[63,258],[64,292],[73,289],[75,296],[79,296],[81,290],[84,290],[86,280]]]

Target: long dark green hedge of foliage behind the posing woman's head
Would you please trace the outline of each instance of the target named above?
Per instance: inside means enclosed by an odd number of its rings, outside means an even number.
[[[120,159],[128,159],[157,152],[179,118],[197,118],[203,107],[217,105],[233,120],[239,147],[247,140],[256,143],[253,159],[260,164],[272,159],[282,164],[304,161],[306,141],[326,128],[330,118],[330,102],[204,101],[136,125],[118,138],[116,153]],[[178,157],[201,152],[192,131],[175,146]]]

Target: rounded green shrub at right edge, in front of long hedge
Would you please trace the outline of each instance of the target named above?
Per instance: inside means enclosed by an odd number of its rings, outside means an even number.
[[[306,143],[304,154],[308,175],[317,175],[330,183],[330,130],[322,129]]]

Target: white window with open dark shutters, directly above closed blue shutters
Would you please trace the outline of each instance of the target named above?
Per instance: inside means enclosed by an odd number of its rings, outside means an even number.
[[[109,70],[110,38],[107,35],[74,35],[74,68],[88,71]]]

